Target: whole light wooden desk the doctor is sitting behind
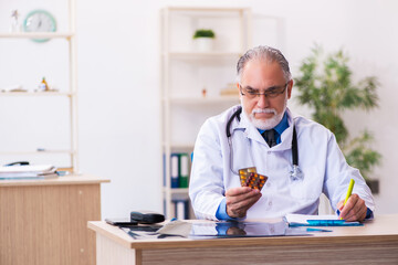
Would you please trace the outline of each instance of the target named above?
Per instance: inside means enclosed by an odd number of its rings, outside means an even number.
[[[97,264],[398,264],[398,214],[365,226],[313,236],[133,240],[105,222],[96,232]]]

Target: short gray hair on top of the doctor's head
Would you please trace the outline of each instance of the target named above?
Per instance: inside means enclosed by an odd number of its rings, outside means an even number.
[[[283,56],[280,50],[270,46],[256,46],[247,51],[238,61],[237,80],[239,83],[241,82],[241,77],[245,64],[252,60],[263,60],[269,63],[277,62],[283,71],[286,82],[292,78],[292,74],[289,67],[289,62]]]

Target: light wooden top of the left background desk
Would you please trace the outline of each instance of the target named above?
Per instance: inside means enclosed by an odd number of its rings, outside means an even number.
[[[109,182],[108,179],[102,179],[91,174],[69,174],[50,179],[21,179],[21,180],[0,180],[0,187],[15,186],[61,186],[61,184],[93,184]]]

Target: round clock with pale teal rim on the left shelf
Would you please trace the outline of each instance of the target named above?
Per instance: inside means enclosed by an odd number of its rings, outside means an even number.
[[[25,32],[54,32],[56,22],[54,17],[45,10],[33,10],[23,21]],[[50,39],[33,39],[36,42],[45,42]]]

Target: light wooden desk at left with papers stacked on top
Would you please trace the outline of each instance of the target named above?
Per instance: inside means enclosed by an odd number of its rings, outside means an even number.
[[[102,182],[93,176],[0,180],[0,264],[95,264]]]

